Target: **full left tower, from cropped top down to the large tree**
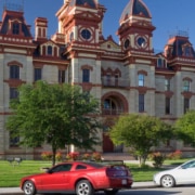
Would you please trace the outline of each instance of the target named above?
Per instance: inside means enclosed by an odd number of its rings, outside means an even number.
[[[64,36],[63,55],[70,61],[69,83],[90,92],[101,86],[102,21],[106,9],[98,0],[66,0],[56,13]]]

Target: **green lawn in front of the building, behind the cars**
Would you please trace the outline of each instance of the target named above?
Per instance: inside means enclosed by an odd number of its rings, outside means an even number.
[[[166,160],[165,165],[178,165],[186,161],[181,160]],[[140,168],[139,165],[128,164],[135,182],[139,181],[152,181],[153,174],[162,170],[161,168],[155,169],[153,167]],[[8,161],[0,160],[0,187],[13,187],[18,186],[21,178],[34,173],[41,172],[41,168],[51,167],[51,161],[37,161],[37,160],[24,160],[21,165],[11,165]]]

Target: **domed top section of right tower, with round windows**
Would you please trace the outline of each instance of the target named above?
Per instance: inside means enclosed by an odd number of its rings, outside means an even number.
[[[153,52],[152,15],[142,0],[131,0],[125,8],[117,31],[123,52]]]

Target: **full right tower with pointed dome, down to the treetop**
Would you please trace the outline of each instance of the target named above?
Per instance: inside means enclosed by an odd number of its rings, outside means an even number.
[[[155,62],[152,14],[142,0],[130,0],[125,8],[117,35],[123,66],[130,80],[129,109],[155,116]],[[139,105],[135,107],[134,105]],[[143,105],[150,105],[146,108]]]

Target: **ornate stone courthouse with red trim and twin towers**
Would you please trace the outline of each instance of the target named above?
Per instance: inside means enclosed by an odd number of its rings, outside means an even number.
[[[4,8],[0,22],[0,158],[23,156],[36,159],[44,147],[22,148],[11,138],[5,121],[10,100],[17,87],[46,80],[80,86],[102,107],[101,153],[125,154],[106,135],[123,113],[140,113],[173,123],[195,108],[195,52],[188,35],[170,37],[161,53],[153,48],[152,14],[142,0],[130,0],[119,18],[117,35],[103,36],[106,8],[98,0],[65,0],[56,12],[58,31],[48,38],[48,20],[35,20],[35,37],[24,12]],[[194,151],[170,141],[161,150]],[[187,153],[188,152],[188,153]]]

